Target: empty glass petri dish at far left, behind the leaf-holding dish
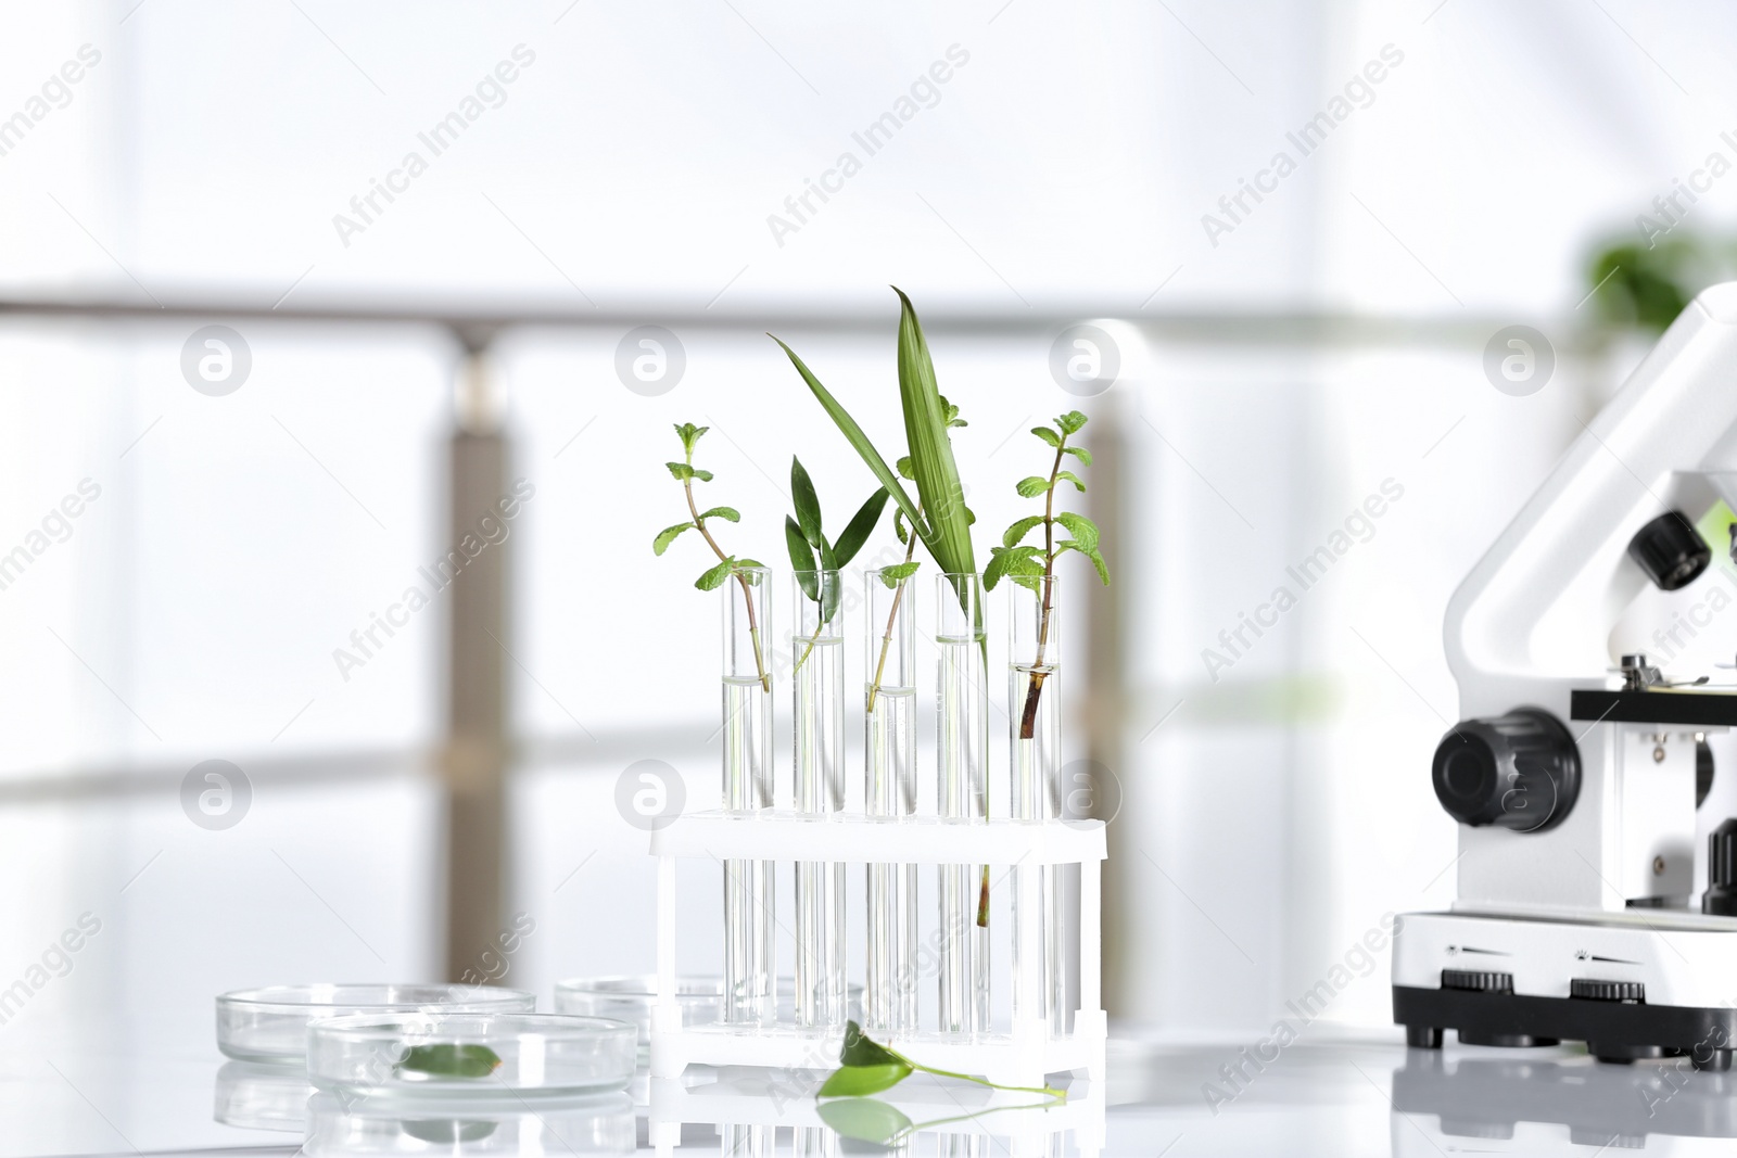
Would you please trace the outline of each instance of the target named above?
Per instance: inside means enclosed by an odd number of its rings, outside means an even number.
[[[307,1023],[342,1014],[532,1012],[537,997],[481,984],[274,984],[217,998],[217,1049],[236,1061],[299,1066]]]

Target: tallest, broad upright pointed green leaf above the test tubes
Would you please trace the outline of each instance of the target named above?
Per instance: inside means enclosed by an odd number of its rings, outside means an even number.
[[[947,411],[935,385],[935,363],[922,337],[922,323],[910,299],[898,286],[898,394],[905,411],[905,441],[910,467],[917,476],[917,495],[928,524],[912,521],[935,564],[948,575],[976,571],[971,552],[971,524],[966,521],[966,491],[954,462],[954,444],[947,438]]]

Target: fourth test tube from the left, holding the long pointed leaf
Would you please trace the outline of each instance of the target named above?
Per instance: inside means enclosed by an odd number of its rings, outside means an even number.
[[[988,818],[988,649],[983,634],[983,583],[976,575],[935,580],[938,681],[938,795],[941,819]],[[988,870],[940,866],[943,1033],[988,1030]]]

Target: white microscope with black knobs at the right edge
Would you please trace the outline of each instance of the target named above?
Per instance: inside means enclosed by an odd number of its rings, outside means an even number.
[[[1737,1049],[1737,283],[1706,290],[1447,608],[1459,899],[1393,938],[1407,1043]],[[1702,807],[1702,800],[1707,804]],[[1713,814],[1718,813],[1718,814]],[[1704,849],[1704,868],[1697,868]]]

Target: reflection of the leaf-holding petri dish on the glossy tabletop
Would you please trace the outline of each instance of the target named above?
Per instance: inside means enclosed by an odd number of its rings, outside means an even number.
[[[637,1137],[625,1094],[526,1106],[438,1104],[405,1109],[335,1094],[307,1101],[304,1153],[313,1158],[396,1155],[486,1158],[490,1155],[631,1155]]]

